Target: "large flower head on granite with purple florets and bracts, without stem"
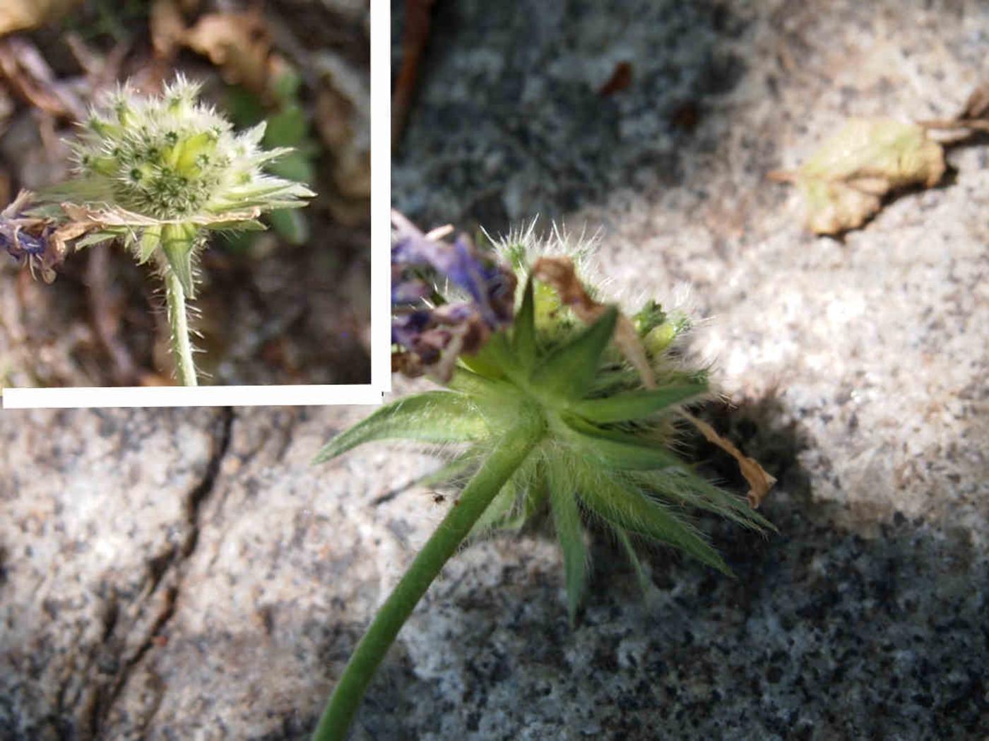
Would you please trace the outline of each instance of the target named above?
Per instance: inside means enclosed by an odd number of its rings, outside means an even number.
[[[567,240],[559,233],[554,248],[531,231],[521,238],[516,234],[498,245],[504,256],[499,261],[462,242],[410,232],[401,218],[398,224],[393,260],[399,261],[393,268],[400,280],[393,291],[402,302],[393,338],[427,367],[446,363],[446,372],[433,373],[446,390],[405,397],[379,410],[329,442],[319,459],[382,438],[465,445],[429,477],[438,485],[483,470],[506,441],[536,440],[475,531],[519,526],[548,503],[563,549],[572,619],[586,583],[584,524],[590,520],[609,527],[637,566],[635,536],[664,542],[726,572],[724,561],[690,524],[688,510],[710,510],[749,527],[770,526],[744,499],[705,481],[677,455],[677,422],[692,420],[708,435],[706,425],[684,410],[708,396],[706,369],[690,367],[676,347],[686,322],[672,319],[655,301],[631,318],[601,303],[581,274],[581,248],[560,249]],[[405,270],[422,263],[435,270],[417,276]],[[506,264],[514,277],[506,277]],[[439,273],[469,300],[444,303]],[[513,289],[516,280],[524,290],[512,299],[515,292],[503,289]],[[470,321],[486,330],[470,347],[430,335],[451,324],[468,327]],[[430,355],[423,343],[436,352]],[[752,459],[745,462],[758,468]],[[771,477],[764,482],[771,485]]]

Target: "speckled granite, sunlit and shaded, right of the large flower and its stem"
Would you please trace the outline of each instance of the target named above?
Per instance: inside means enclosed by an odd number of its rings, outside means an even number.
[[[600,228],[614,296],[703,320],[693,348],[741,407],[723,421],[780,478],[766,503],[780,534],[718,527],[735,583],[660,557],[647,605],[599,559],[604,592],[573,636],[528,575],[494,577],[526,593],[494,602],[511,613],[495,623],[451,590],[460,606],[419,613],[406,639],[407,671],[436,689],[397,676],[362,716],[368,737],[985,738],[985,139],[844,241],[803,232],[765,173],[849,116],[954,113],[989,75],[989,12],[553,5],[438,8],[396,204],[424,226],[498,231],[538,212]],[[625,60],[631,84],[602,97]],[[466,645],[438,652],[440,636]],[[407,714],[389,724],[396,695]]]

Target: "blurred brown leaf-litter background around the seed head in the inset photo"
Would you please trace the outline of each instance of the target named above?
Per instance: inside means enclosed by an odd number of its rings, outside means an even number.
[[[204,253],[207,382],[366,382],[369,56],[367,0],[4,0],[0,202],[65,177],[65,140],[104,91],[200,81],[238,129],[267,122],[266,147],[295,149],[271,171],[318,194]],[[162,297],[140,271],[115,246],[70,254],[51,286],[3,260],[0,382],[173,383]]]

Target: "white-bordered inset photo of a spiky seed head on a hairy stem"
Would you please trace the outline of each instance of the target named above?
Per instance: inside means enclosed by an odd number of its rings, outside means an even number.
[[[0,8],[0,387],[366,384],[367,3]]]

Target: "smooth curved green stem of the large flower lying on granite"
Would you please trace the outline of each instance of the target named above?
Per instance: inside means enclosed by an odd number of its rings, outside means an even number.
[[[523,422],[495,446],[378,610],[319,718],[313,741],[343,741],[371,678],[415,604],[456,552],[501,487],[538,442],[542,426]]]

